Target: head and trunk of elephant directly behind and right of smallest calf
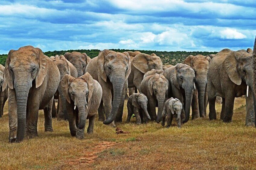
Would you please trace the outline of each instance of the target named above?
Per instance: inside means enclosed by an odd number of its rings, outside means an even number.
[[[186,64],[178,63],[175,66],[172,66],[165,70],[164,76],[169,76],[167,79],[170,81],[172,91],[176,88],[178,91],[181,89],[184,90],[185,93],[185,120],[184,123],[189,120],[190,115],[190,106],[192,101],[192,96],[194,90],[196,89],[195,85],[195,71]]]

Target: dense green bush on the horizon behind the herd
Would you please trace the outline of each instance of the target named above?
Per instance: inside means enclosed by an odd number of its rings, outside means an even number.
[[[117,52],[124,52],[124,51],[135,51],[135,50],[125,50],[125,49],[111,49],[113,51]],[[66,52],[72,52],[72,51],[78,51],[81,53],[86,53],[89,57],[94,58],[98,56],[100,50],[66,50],[66,51],[47,51],[44,52],[45,55],[48,57],[55,56],[55,55],[63,55]],[[186,52],[186,51],[151,51],[151,50],[139,50],[142,53],[145,54],[152,54],[155,53],[157,56],[159,56],[163,64],[172,64],[175,65],[177,63],[182,63],[183,60],[189,56],[189,55],[208,55],[208,54],[216,54],[217,52],[207,52],[207,51],[193,51],[193,52]],[[7,58],[7,54],[0,55],[0,64],[5,66],[5,61]]]

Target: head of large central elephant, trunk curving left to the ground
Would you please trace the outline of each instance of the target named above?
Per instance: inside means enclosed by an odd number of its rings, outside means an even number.
[[[103,122],[108,125],[114,121],[119,109],[124,83],[131,73],[131,59],[127,52],[103,50],[98,56],[98,78],[111,82],[114,91],[111,113]]]

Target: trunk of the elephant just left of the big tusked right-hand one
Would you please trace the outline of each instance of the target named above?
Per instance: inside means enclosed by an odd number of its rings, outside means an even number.
[[[200,80],[197,83],[198,90],[198,105],[199,105],[199,113],[200,117],[205,117],[205,108],[204,108],[204,96],[205,96],[205,88],[207,82],[205,80]]]

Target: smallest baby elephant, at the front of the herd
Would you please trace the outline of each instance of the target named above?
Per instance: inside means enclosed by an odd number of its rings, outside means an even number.
[[[169,98],[165,102],[164,110],[162,113],[162,126],[165,125],[165,116],[167,116],[167,126],[169,128],[171,126],[173,116],[176,117],[177,126],[181,128],[181,111],[182,111],[182,103],[177,98]]]

